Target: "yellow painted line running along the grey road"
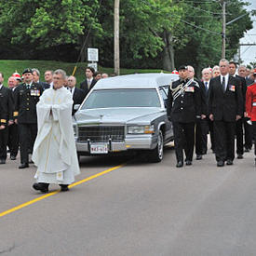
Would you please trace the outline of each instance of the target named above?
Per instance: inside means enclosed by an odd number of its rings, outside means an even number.
[[[122,165],[116,166],[116,167],[114,167],[114,168],[108,168],[108,169],[106,169],[106,170],[103,170],[103,171],[101,171],[101,172],[95,174],[95,175],[89,176],[88,178],[86,178],[86,179],[84,179],[84,180],[82,180],[82,181],[74,182],[73,184],[69,185],[69,187],[72,188],[72,187],[74,187],[74,186],[77,186],[77,185],[80,185],[80,184],[82,184],[82,183],[88,182],[88,181],[90,181],[90,180],[96,179],[96,178],[98,178],[98,177],[100,177],[100,176],[102,176],[102,175],[104,175],[104,174],[106,174],[106,173],[109,173],[109,172],[111,172],[111,171],[113,171],[113,170],[115,170],[115,169],[117,169],[117,168],[122,168],[122,167],[124,167],[125,165],[126,165],[126,164],[122,164]],[[12,213],[12,212],[18,210],[18,209],[22,209],[22,208],[25,208],[25,207],[27,207],[27,206],[33,205],[34,203],[36,203],[36,202],[38,202],[38,201],[41,201],[41,200],[43,200],[43,199],[45,199],[45,198],[47,198],[47,197],[49,197],[49,196],[51,196],[51,195],[56,195],[56,194],[58,194],[58,193],[60,193],[60,190],[53,191],[53,192],[51,192],[51,193],[48,193],[47,195],[42,195],[42,196],[37,197],[37,198],[35,198],[35,199],[31,200],[31,201],[28,201],[28,202],[26,202],[26,203],[24,203],[24,204],[21,204],[21,205],[19,205],[19,206],[17,206],[17,207],[14,207],[14,208],[12,208],[12,209],[7,209],[7,210],[5,210],[5,211],[3,211],[3,212],[0,212],[0,218],[3,217],[3,216],[6,216],[6,215],[9,214],[9,213]]]

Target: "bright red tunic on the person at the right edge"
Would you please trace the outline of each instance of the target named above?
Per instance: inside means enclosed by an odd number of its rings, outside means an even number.
[[[251,121],[256,121],[256,83],[247,88],[246,112]]]

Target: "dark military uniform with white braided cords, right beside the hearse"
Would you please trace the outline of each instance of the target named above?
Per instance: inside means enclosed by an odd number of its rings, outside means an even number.
[[[201,117],[201,92],[193,80],[172,83],[168,90],[168,116],[173,123],[174,144],[177,162],[191,164],[195,144],[195,120]]]

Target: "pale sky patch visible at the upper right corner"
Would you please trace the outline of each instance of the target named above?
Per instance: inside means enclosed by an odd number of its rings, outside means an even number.
[[[247,0],[251,5],[248,8],[248,10],[256,9],[256,0]],[[256,44],[256,17],[252,17],[253,21],[253,28],[249,30],[243,38],[240,39],[240,44]],[[237,20],[239,22],[239,20]],[[243,61],[243,64],[247,65],[251,61],[256,61],[256,46],[241,46],[241,60]]]

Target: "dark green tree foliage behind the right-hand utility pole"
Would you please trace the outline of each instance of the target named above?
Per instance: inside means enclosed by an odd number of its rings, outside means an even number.
[[[202,68],[218,64],[222,57],[222,5],[218,1],[202,3],[201,0],[189,3],[183,1],[183,5],[185,13],[182,22],[185,24],[185,29],[177,34],[177,38],[185,36],[188,41],[185,47],[178,49],[178,52],[175,48],[175,60],[178,65],[184,63],[193,65],[197,74],[200,74]],[[230,1],[227,7],[227,21],[247,13],[245,7],[246,3],[238,0]],[[233,58],[239,38],[251,28],[251,24],[249,15],[246,15],[227,26],[227,59]],[[231,48],[233,50],[230,50]]]

